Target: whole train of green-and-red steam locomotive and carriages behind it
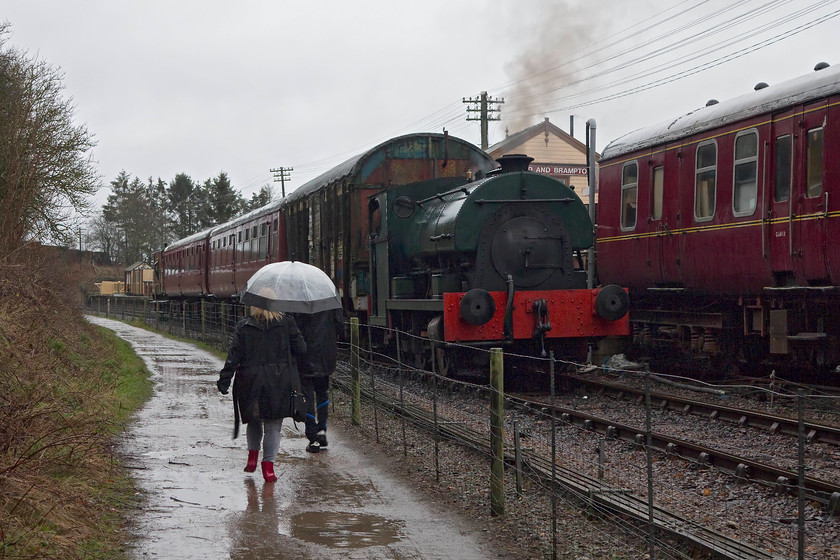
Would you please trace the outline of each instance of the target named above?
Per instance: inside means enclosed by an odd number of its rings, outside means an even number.
[[[618,286],[587,287],[593,226],[565,184],[448,134],[384,142],[284,199],[170,244],[169,298],[235,298],[261,266],[300,260],[335,282],[372,345],[450,373],[469,346],[582,358],[629,334]],[[389,328],[373,328],[389,327]],[[429,351],[433,348],[434,351]]]

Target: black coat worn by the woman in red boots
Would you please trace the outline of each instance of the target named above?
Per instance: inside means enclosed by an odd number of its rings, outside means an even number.
[[[284,314],[268,324],[246,317],[230,338],[219,383],[233,378],[236,420],[276,420],[291,416],[292,390],[300,391],[295,359],[306,353],[306,342],[293,317]],[[235,430],[236,431],[236,430]]]

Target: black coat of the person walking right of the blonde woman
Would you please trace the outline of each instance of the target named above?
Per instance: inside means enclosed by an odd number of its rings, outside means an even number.
[[[298,364],[304,377],[325,377],[335,371],[338,360],[336,335],[344,326],[341,309],[318,313],[295,313],[300,332],[308,348],[306,357]]]

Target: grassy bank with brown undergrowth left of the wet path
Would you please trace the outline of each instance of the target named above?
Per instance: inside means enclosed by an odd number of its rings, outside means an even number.
[[[0,558],[119,560],[139,494],[115,441],[151,383],[54,272],[0,260]]]

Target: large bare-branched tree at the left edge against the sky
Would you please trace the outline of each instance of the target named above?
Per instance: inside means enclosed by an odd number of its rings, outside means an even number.
[[[99,177],[93,136],[73,123],[60,71],[6,44],[0,23],[0,254],[74,236]]]

